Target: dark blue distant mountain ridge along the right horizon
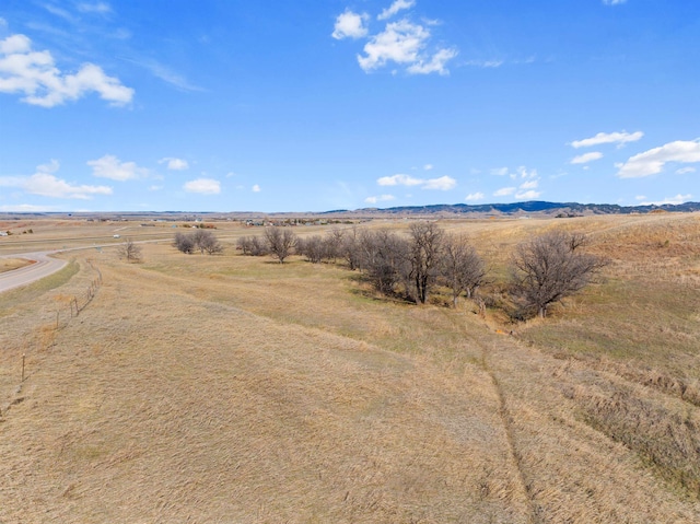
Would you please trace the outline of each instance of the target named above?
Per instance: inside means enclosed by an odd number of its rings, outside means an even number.
[[[649,213],[653,211],[692,212],[700,211],[700,202],[663,203],[648,206],[619,206],[617,203],[579,203],[579,202],[547,202],[526,201],[514,203],[436,203],[432,206],[399,206],[394,208],[364,208],[354,213],[381,213],[381,214],[548,214],[576,217],[587,214],[629,214]],[[343,211],[327,211],[327,213],[340,213]]]

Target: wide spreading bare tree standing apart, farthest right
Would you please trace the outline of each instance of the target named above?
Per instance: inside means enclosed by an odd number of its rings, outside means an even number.
[[[511,263],[513,292],[545,317],[547,307],[583,289],[607,261],[581,252],[585,236],[553,231],[520,244]]]

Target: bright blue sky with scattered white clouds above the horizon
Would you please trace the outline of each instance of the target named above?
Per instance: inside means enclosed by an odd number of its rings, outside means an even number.
[[[700,200],[697,0],[3,0],[0,211]]]

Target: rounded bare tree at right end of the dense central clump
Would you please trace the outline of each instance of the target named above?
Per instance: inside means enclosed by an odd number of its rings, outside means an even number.
[[[452,303],[456,307],[463,292],[471,298],[483,283],[486,266],[477,251],[464,235],[445,235],[441,256],[442,281],[452,290]]]

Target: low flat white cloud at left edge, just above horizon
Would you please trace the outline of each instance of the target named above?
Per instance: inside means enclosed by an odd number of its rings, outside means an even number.
[[[59,163],[51,160],[50,164],[38,165],[32,176],[0,176],[0,187],[16,187],[42,197],[81,200],[89,200],[93,195],[112,195],[108,186],[74,185],[58,178],[51,174],[58,168]]]

